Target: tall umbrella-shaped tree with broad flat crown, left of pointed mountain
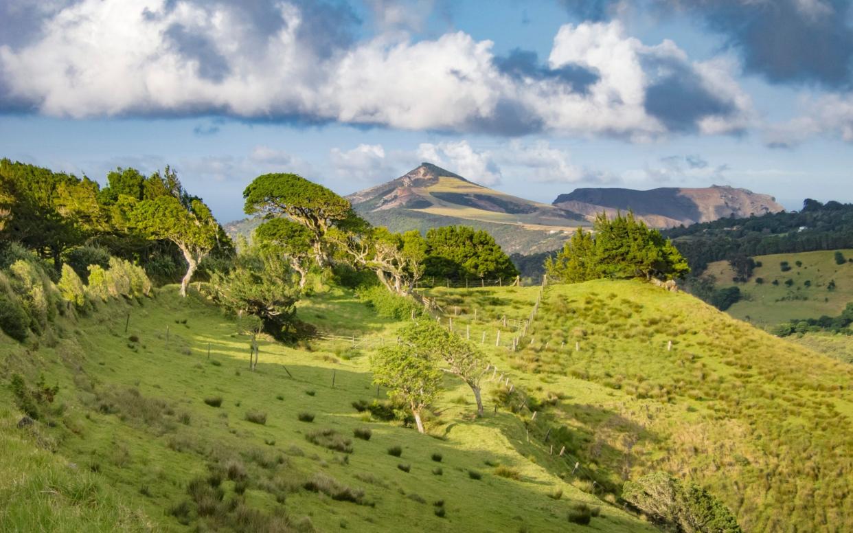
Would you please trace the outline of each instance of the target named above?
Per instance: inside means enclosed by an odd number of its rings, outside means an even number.
[[[351,217],[350,202],[328,188],[296,174],[264,174],[243,191],[247,215],[289,217],[307,228],[318,265],[328,264],[324,238],[328,229]]]

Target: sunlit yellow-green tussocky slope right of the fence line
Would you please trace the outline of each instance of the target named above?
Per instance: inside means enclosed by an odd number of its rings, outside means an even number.
[[[849,365],[688,295],[615,281],[548,288],[522,349],[495,356],[528,405],[553,405],[530,427],[534,440],[544,450],[548,428],[570,428],[563,467],[577,457],[597,487],[662,469],[705,484],[746,530],[853,528]]]

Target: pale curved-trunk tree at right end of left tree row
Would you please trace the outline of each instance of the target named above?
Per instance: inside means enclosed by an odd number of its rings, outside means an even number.
[[[221,229],[210,209],[201,200],[192,200],[189,209],[174,196],[142,200],[132,211],[136,229],[153,239],[171,240],[187,261],[187,273],[181,280],[181,296],[199,263],[217,245]]]

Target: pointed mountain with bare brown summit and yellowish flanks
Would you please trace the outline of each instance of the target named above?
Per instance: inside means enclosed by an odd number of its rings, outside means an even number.
[[[559,206],[505,194],[430,163],[346,198],[370,223],[392,231],[466,224],[488,230],[507,252],[554,249],[578,225],[588,225]]]

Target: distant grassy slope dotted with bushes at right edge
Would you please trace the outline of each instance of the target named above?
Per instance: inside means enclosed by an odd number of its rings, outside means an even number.
[[[845,258],[853,257],[853,250],[843,250]],[[758,325],[775,325],[794,318],[817,318],[821,315],[837,316],[844,306],[853,301],[853,264],[835,264],[835,252],[782,253],[757,256],[762,266],[755,269],[750,281],[733,283],[731,267],[725,261],[708,265],[707,274],[717,277],[720,287],[737,285],[746,295],[743,301],[732,305],[728,313],[736,318],[746,319]],[[787,261],[791,270],[782,272],[780,262]],[[798,267],[796,262],[802,261]],[[763,278],[763,284],[755,282]],[[794,281],[792,287],[786,287],[785,281]],[[774,286],[773,281],[779,285]],[[811,287],[805,287],[804,281],[811,281]],[[837,288],[827,291],[827,283],[835,280]],[[807,298],[807,299],[804,299]]]

